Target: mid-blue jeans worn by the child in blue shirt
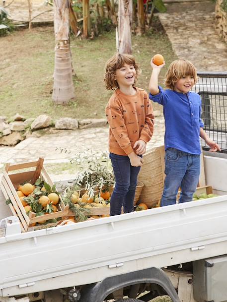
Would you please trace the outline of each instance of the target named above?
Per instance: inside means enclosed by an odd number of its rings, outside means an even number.
[[[165,182],[161,197],[161,206],[176,203],[179,187],[179,203],[192,201],[200,174],[200,155],[194,155],[168,148],[165,151]]]

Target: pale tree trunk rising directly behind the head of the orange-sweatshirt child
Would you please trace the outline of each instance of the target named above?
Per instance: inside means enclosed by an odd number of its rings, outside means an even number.
[[[118,2],[118,51],[120,54],[132,54],[131,22],[133,12],[132,0]]]

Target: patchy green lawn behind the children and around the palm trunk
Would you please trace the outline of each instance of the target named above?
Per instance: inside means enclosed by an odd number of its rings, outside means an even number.
[[[137,86],[148,90],[151,57],[162,54],[167,66],[176,55],[158,21],[146,35],[133,35],[132,45],[142,69]],[[94,40],[71,38],[76,99],[67,106],[55,105],[51,99],[54,47],[53,27],[36,27],[0,37],[0,115],[10,118],[18,112],[25,118],[34,118],[48,114],[53,120],[104,117],[105,104],[112,94],[103,85],[104,66],[115,53],[115,31]],[[166,67],[160,74],[160,83],[165,71]]]

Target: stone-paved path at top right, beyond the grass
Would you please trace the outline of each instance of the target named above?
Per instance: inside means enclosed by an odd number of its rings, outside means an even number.
[[[227,71],[227,44],[215,30],[215,1],[171,3],[159,19],[179,58],[199,71]]]

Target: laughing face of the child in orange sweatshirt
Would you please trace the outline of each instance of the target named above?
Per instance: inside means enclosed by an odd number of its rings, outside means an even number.
[[[116,70],[116,81],[119,88],[129,88],[133,86],[136,78],[136,70],[134,65],[124,63],[122,67]]]

